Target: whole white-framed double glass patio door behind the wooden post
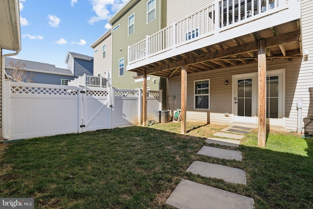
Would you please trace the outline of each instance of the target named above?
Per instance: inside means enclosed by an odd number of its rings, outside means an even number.
[[[258,74],[233,75],[233,122],[258,124]],[[285,127],[285,70],[267,71],[267,124]]]

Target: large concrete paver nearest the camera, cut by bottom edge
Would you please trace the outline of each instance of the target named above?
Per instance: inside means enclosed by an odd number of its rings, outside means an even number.
[[[250,197],[182,179],[165,202],[179,209],[253,209]]]

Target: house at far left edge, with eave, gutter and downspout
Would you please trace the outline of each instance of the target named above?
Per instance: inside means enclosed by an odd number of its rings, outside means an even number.
[[[16,51],[12,54],[3,54],[2,49]],[[2,0],[0,1],[0,140],[2,141],[2,124],[3,124],[3,84],[4,84],[4,58],[6,56],[18,54],[22,49],[21,46],[21,26],[20,26],[20,8],[19,0]]]

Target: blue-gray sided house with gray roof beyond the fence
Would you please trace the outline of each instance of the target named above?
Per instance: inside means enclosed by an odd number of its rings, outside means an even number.
[[[84,74],[92,75],[93,58],[83,54],[67,52],[66,63],[68,69],[56,68],[55,65],[33,62],[28,60],[19,60],[14,58],[5,58],[5,69],[8,72],[10,63],[21,62],[23,69],[32,74],[33,83],[67,85],[68,81],[74,80]]]

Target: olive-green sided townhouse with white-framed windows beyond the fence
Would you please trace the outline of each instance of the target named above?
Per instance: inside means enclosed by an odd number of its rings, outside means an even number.
[[[109,20],[112,24],[112,87],[142,89],[142,75],[126,70],[128,46],[165,27],[166,9],[166,0],[129,0]],[[137,55],[140,56],[140,52]],[[148,90],[166,93],[166,79],[148,75],[147,80]]]

